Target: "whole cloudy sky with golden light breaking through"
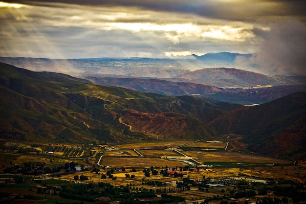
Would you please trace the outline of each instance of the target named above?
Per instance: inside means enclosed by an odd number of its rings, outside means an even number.
[[[305,74],[305,0],[0,1],[0,56],[256,53],[240,66]]]

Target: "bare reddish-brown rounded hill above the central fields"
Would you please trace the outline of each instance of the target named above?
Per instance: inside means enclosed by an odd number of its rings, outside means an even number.
[[[173,108],[173,105],[169,104],[169,107]],[[123,115],[121,123],[129,126],[132,132],[139,132],[154,138],[196,140],[223,137],[197,118],[183,114],[143,113],[136,110],[126,110]]]

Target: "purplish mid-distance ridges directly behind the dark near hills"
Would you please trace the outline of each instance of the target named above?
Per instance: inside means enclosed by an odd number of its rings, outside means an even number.
[[[213,68],[212,70],[218,71],[218,68]],[[225,69],[225,72],[226,70],[227,69]],[[237,71],[240,72],[240,70]],[[195,75],[197,76],[197,74]],[[219,77],[222,77],[221,79],[218,79],[218,81],[224,83],[223,79],[225,75],[226,73],[218,74]],[[259,76],[261,76],[261,74],[259,74]],[[296,85],[279,85],[272,87],[254,86],[254,88],[253,87],[218,88],[215,86],[203,85],[200,84],[200,82],[198,84],[191,83],[188,81],[192,80],[185,80],[185,79],[164,80],[164,79],[150,79],[150,78],[121,78],[121,77],[114,78],[114,77],[102,77],[102,76],[87,76],[85,78],[93,83],[104,86],[107,85],[119,86],[136,91],[153,92],[165,95],[197,95],[197,97],[201,98],[209,97],[217,101],[226,101],[226,102],[239,103],[239,104],[266,103],[274,99],[284,97],[291,93],[306,91],[306,86],[299,83],[297,83]],[[235,76],[235,78],[237,78],[237,76]],[[253,85],[257,83],[259,84],[260,81],[263,82],[262,84],[267,84],[264,83],[264,78],[265,77],[260,78],[260,80],[253,80],[252,84]],[[245,77],[245,79],[243,80],[247,81],[248,79],[249,77]],[[216,79],[212,78],[207,80],[213,81]],[[178,81],[186,81],[186,82],[178,82]],[[250,83],[248,83],[248,85],[250,85]]]

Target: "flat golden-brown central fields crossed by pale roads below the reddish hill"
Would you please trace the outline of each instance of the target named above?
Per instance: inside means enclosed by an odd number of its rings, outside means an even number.
[[[145,166],[184,166],[187,161],[197,161],[198,164],[213,166],[237,166],[237,165],[265,165],[265,164],[292,164],[292,161],[261,157],[256,155],[243,154],[238,152],[225,151],[226,143],[213,142],[192,142],[192,141],[169,141],[169,142],[145,142],[122,144],[109,146],[103,151],[103,157],[99,163],[101,166],[120,167],[145,167]],[[179,147],[180,151],[176,151]],[[187,148],[187,149],[186,149]],[[197,148],[197,151],[191,151],[190,148]],[[186,149],[186,150],[184,150]],[[207,151],[202,149],[216,149],[216,151]],[[138,154],[139,153],[139,154]],[[111,157],[109,157],[111,156]],[[131,156],[133,156],[131,158]],[[142,157],[140,157],[142,156]],[[169,160],[169,157],[180,156],[180,160]],[[168,157],[168,159],[160,159]],[[184,158],[186,159],[184,160]],[[187,159],[193,158],[194,161]],[[210,162],[210,163],[205,163]],[[223,162],[216,163],[212,162]],[[233,162],[236,162],[233,165]]]

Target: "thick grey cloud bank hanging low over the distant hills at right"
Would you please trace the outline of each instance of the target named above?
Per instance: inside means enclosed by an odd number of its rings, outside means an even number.
[[[251,59],[238,58],[240,66],[258,65],[268,74],[306,75],[306,26],[296,20],[270,25],[269,29],[254,29],[262,38],[258,52]]]

